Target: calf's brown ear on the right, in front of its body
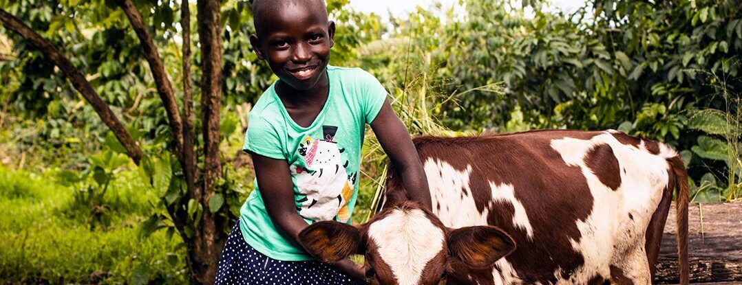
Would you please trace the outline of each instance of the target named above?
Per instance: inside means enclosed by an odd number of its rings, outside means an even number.
[[[448,234],[451,257],[474,268],[493,266],[515,247],[513,238],[497,227],[462,227]]]

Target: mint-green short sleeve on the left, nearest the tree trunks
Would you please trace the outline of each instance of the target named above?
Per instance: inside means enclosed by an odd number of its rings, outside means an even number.
[[[245,132],[243,151],[252,152],[273,159],[286,159],[279,132],[265,118],[250,115]]]

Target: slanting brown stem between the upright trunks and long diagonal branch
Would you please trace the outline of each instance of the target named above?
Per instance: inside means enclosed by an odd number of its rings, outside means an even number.
[[[142,14],[137,10],[134,1],[117,0],[116,3],[119,4],[126,14],[129,22],[131,22],[131,27],[134,28],[134,32],[137,33],[137,37],[139,37],[140,44],[142,44],[144,57],[147,59],[149,68],[152,71],[154,84],[157,85],[157,94],[160,95],[162,104],[165,106],[165,112],[168,113],[168,121],[175,141],[175,153],[180,161],[180,165],[185,168],[185,161],[183,158],[183,121],[180,119],[180,112],[178,111],[178,105],[175,101],[173,87],[170,84],[167,73],[165,73],[165,65],[162,64],[160,54],[157,53],[157,47],[154,46],[149,30],[147,30],[147,27],[142,20]]]

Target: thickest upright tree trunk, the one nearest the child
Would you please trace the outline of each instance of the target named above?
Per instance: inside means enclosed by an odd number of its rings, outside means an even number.
[[[216,215],[209,210],[209,199],[221,176],[219,158],[219,123],[222,100],[222,28],[220,2],[197,1],[198,34],[201,44],[201,112],[204,141],[203,216],[194,235],[191,255],[191,274],[201,284],[212,284],[216,277],[221,249],[226,241]]]

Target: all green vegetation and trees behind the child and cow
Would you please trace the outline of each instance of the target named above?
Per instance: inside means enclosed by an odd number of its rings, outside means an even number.
[[[679,150],[694,201],[740,199],[741,1],[468,0],[388,25],[347,2],[328,1],[331,64],[379,78],[410,133],[623,130]],[[0,0],[0,283],[209,283],[275,80],[250,9]],[[356,222],[384,159],[367,135]]]

